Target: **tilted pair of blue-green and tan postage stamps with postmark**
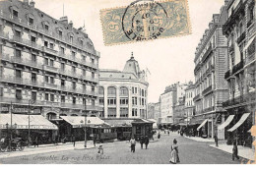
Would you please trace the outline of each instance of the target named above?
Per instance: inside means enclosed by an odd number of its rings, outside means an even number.
[[[127,7],[101,10],[100,20],[105,45],[191,33],[187,0],[137,0]]]

